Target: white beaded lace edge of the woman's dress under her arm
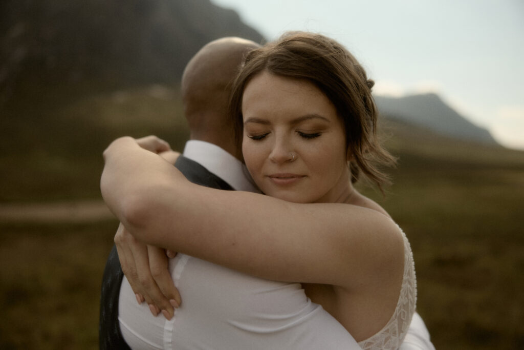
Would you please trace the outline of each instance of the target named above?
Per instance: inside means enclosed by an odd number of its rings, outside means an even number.
[[[380,332],[358,343],[358,345],[365,350],[399,348],[406,337],[409,325],[411,324],[411,318],[415,312],[415,306],[417,304],[417,280],[415,277],[413,253],[403,231],[402,237],[404,238],[404,275],[397,307],[391,319],[389,319],[388,323]]]

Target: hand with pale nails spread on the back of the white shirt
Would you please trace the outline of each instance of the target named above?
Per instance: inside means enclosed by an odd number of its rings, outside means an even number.
[[[181,299],[168,270],[165,250],[139,242],[122,224],[116,231],[115,245],[137,302],[147,302],[154,316],[161,311],[170,320]]]

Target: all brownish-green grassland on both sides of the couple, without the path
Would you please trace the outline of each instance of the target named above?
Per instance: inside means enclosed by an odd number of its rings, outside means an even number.
[[[100,198],[101,152],[113,137],[156,133],[181,147],[180,105],[167,98],[176,94],[148,87],[33,105],[30,123],[17,119],[21,107],[8,106],[13,133],[0,141],[7,151],[0,180],[9,186],[0,203]],[[418,310],[434,345],[524,348],[524,152],[397,123],[390,130],[389,148],[399,156],[394,185],[385,197],[361,187],[410,239]],[[113,220],[0,222],[0,348],[97,348],[102,270],[115,229]]]

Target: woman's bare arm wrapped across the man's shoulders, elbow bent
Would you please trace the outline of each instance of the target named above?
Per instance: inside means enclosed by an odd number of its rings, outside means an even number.
[[[262,278],[349,289],[403,267],[400,230],[375,210],[194,185],[130,137],[104,158],[107,205],[151,245]]]

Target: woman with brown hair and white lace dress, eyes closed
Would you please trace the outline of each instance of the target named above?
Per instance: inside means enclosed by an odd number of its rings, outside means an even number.
[[[415,305],[409,243],[356,192],[347,166],[380,185],[376,163],[391,162],[375,139],[372,86],[335,41],[287,35],[247,57],[231,103],[246,166],[266,196],[192,185],[123,138],[104,153],[104,199],[136,238],[258,278],[301,281],[363,348],[396,348]]]

